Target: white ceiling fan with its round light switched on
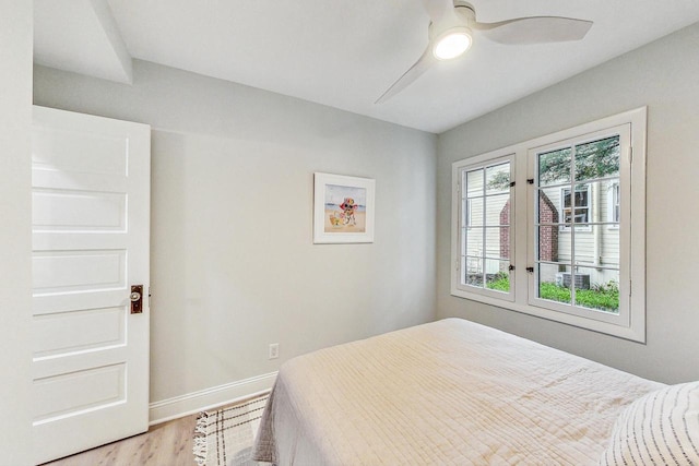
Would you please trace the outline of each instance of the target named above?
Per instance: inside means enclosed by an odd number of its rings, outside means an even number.
[[[376,101],[380,104],[403,91],[438,61],[463,55],[473,44],[473,33],[507,45],[560,43],[582,39],[592,21],[561,16],[517,17],[479,23],[471,3],[463,0],[423,0],[429,15],[429,43],[422,57]]]

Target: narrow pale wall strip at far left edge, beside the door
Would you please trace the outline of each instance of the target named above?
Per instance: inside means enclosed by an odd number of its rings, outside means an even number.
[[[32,2],[0,14],[0,464],[32,452]]]

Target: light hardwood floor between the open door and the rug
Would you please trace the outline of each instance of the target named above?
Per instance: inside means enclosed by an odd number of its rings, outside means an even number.
[[[153,426],[146,433],[109,443],[45,466],[194,466],[197,416]]]

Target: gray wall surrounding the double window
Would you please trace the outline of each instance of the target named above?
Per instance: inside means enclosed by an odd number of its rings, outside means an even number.
[[[699,24],[440,134],[438,316],[463,316],[657,381],[699,379]],[[645,345],[449,294],[451,164],[649,107]]]

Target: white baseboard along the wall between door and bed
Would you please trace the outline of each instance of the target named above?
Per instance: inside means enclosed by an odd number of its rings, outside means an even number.
[[[235,403],[272,389],[276,372],[151,403],[150,426]]]

